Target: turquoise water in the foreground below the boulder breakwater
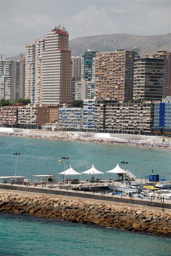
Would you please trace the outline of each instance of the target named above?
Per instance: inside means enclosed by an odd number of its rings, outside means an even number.
[[[170,255],[170,238],[0,214],[0,255]]]

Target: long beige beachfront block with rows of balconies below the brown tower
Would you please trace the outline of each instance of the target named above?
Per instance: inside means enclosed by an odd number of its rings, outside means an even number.
[[[154,103],[97,99],[95,129],[100,132],[150,135],[154,127]]]

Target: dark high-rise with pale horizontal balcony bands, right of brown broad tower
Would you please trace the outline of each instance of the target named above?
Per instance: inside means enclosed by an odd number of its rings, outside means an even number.
[[[134,62],[133,98],[160,100],[163,95],[163,59],[141,58]]]

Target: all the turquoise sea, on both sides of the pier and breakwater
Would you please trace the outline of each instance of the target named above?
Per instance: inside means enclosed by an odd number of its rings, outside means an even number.
[[[137,178],[152,174],[152,169],[171,178],[171,151],[126,145],[81,141],[44,140],[0,136],[0,176],[55,174],[59,180],[70,164],[81,172],[92,163],[106,172],[117,163],[128,161],[127,168]],[[61,160],[61,163],[59,163]],[[96,175],[97,178],[100,176]],[[77,178],[77,177],[75,177]],[[88,177],[83,175],[82,180]],[[106,178],[106,174],[101,175]],[[107,178],[113,179],[108,174]],[[170,238],[102,228],[27,215],[0,214],[1,255],[171,255]]]

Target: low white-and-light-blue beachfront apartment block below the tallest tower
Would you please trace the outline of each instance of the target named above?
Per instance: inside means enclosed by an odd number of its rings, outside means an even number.
[[[82,129],[83,108],[67,108],[67,105],[63,104],[63,108],[59,108],[58,124],[61,129]]]

